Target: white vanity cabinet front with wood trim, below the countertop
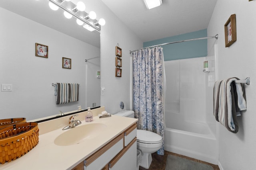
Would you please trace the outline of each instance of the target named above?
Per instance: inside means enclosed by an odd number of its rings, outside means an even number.
[[[136,123],[84,160],[84,170],[133,170],[137,164]]]

